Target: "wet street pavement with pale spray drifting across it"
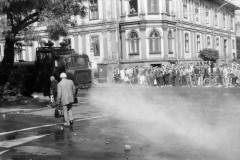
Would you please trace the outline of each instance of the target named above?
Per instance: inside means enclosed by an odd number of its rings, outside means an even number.
[[[1,160],[237,160],[240,88],[99,84],[74,125],[54,109],[0,114]]]

